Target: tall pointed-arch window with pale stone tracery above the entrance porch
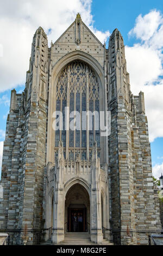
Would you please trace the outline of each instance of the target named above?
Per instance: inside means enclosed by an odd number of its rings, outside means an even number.
[[[73,111],[80,113],[80,124],[77,125],[79,129],[74,131],[70,129],[67,131],[67,136],[65,107],[70,108],[70,113]],[[95,140],[97,147],[100,148],[100,131],[95,127],[95,123],[99,123],[99,118],[93,114],[92,130],[90,131],[87,131],[87,126],[82,123],[84,112],[91,111],[93,113],[96,111],[99,113],[99,82],[95,71],[88,64],[75,60],[62,69],[57,80],[55,110],[61,111],[63,114],[63,130],[55,131],[55,150],[58,148],[59,141],[62,141],[65,151],[66,147],[68,148],[67,158],[73,160],[77,153],[80,153],[81,159],[86,159],[86,149],[87,147],[92,148]],[[85,129],[82,129],[83,127]]]

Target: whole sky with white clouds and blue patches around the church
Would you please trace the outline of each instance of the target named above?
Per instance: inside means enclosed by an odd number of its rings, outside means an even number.
[[[153,173],[156,177],[163,173],[162,0],[39,0],[39,5],[37,0],[0,0],[0,4],[0,165],[10,90],[16,88],[20,93],[24,88],[35,30],[43,27],[50,32],[48,41],[54,42],[80,12],[102,42],[108,42],[115,28],[120,30],[131,91],[135,95],[140,90],[145,92]]]

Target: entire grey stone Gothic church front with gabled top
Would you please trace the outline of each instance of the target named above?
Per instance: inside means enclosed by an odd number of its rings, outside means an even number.
[[[70,132],[57,135],[53,129],[57,102],[61,102],[60,108],[64,100],[66,106],[71,108],[73,103],[78,107],[77,86],[72,89],[71,82],[73,66],[83,69],[79,72],[84,74],[80,78],[84,89],[79,89],[79,101],[83,102],[84,95],[85,105],[80,103],[80,111],[84,107],[89,110],[92,102],[94,110],[111,113],[110,135],[100,136],[98,141],[98,133],[93,131],[91,135],[86,129],[86,137],[82,132],[79,135],[79,147],[75,144],[77,132],[69,147]],[[62,74],[66,74],[65,78]],[[59,87],[61,79],[65,80]],[[72,90],[76,92],[74,102]],[[93,144],[91,136],[96,141]],[[23,243],[25,224],[28,244],[37,244],[41,239],[52,239],[54,243],[64,240],[65,232],[71,229],[68,209],[71,212],[77,207],[83,207],[83,212],[86,209],[84,228],[96,243],[103,240],[102,227],[106,239],[121,245],[126,242],[127,227],[133,245],[146,245],[149,234],[160,233],[144,95],[131,93],[123,38],[117,29],[110,36],[108,49],[80,15],[51,47],[43,29],[37,29],[26,88],[22,94],[11,91],[1,185],[4,198],[0,229],[10,234],[14,245]],[[74,199],[72,188],[76,191]],[[71,208],[73,200],[76,206]]]

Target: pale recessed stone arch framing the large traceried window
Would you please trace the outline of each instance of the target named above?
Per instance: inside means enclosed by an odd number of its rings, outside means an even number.
[[[104,70],[102,66],[97,62],[95,58],[90,56],[90,54],[84,53],[82,51],[74,51],[71,53],[66,54],[64,57],[58,60],[57,63],[52,67],[51,71],[51,77],[49,80],[49,109],[48,109],[48,138],[47,138],[47,162],[51,161],[54,162],[54,131],[52,129],[52,123],[53,123],[53,118],[52,114],[55,111],[54,104],[52,103],[55,101],[56,98],[56,92],[55,92],[55,87],[57,84],[58,76],[61,72],[62,69],[68,63],[73,62],[74,60],[80,60],[87,65],[89,65],[93,71],[95,71],[98,82],[99,82],[99,90],[100,90],[100,97],[99,97],[99,109],[100,111],[105,111],[106,106],[105,106],[105,100],[104,100]],[[105,146],[106,144],[106,138],[101,137],[101,143],[102,145]],[[103,149],[104,147],[101,148],[101,155],[102,155],[102,162],[105,162],[106,159],[106,154]],[[88,150],[87,150],[88,151]],[[69,153],[66,153],[68,155]],[[88,155],[88,154],[87,154]],[[66,156],[67,157],[67,156]]]

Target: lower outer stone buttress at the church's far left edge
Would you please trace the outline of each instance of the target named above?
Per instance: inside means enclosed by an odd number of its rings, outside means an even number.
[[[4,141],[2,178],[3,200],[1,202],[1,230],[16,229],[18,221],[18,205],[20,190],[20,173],[22,172],[22,126],[23,126],[23,97],[24,94],[16,94],[11,91],[10,113],[7,119],[7,129]]]

